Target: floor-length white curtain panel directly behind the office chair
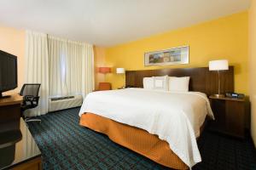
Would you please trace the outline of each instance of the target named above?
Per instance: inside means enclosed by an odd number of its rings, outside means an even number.
[[[38,107],[26,110],[26,116],[38,116],[48,112],[49,62],[47,35],[26,31],[25,82],[41,83]]]

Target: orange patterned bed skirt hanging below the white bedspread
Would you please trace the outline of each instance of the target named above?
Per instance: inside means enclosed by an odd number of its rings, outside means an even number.
[[[170,149],[169,144],[147,131],[115,122],[103,116],[86,113],[80,117],[80,125],[108,135],[113,142],[148,157],[166,167],[188,169],[186,164]]]

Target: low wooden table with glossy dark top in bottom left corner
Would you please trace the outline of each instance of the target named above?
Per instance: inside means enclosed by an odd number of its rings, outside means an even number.
[[[22,118],[20,130],[0,133],[0,170],[6,169],[42,169],[41,152]]]

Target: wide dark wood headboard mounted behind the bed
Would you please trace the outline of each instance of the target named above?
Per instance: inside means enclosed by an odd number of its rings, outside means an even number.
[[[189,91],[203,92],[207,95],[218,94],[218,72],[209,71],[208,67],[177,68],[143,71],[125,71],[125,84],[143,88],[143,77],[190,77]],[[221,71],[221,93],[234,92],[234,67]]]

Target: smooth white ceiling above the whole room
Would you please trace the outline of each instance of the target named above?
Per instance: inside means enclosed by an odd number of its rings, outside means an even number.
[[[249,3],[250,0],[1,0],[0,25],[109,47],[234,14],[246,10]]]

